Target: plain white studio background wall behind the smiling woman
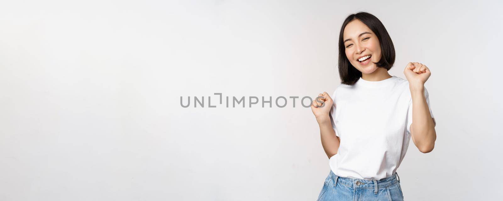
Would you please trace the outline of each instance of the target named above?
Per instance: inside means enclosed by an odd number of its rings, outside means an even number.
[[[340,27],[358,11],[391,35],[391,75],[432,72],[437,141],[427,154],[410,143],[405,200],[497,199],[502,6],[2,1],[0,200],[315,200],[329,166],[311,109],[226,108],[213,93],[331,94]]]

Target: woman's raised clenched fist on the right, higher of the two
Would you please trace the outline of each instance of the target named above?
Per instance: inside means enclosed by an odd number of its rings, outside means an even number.
[[[432,73],[430,69],[418,62],[409,62],[403,71],[410,87],[423,87]]]

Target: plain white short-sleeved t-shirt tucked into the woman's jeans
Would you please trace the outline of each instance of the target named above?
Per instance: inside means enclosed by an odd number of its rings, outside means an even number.
[[[433,118],[426,87],[425,97]],[[408,81],[396,76],[382,81],[360,78],[353,86],[337,87],[331,98],[330,120],[341,138],[338,153],[329,159],[333,173],[377,180],[393,175],[410,140],[412,97]]]

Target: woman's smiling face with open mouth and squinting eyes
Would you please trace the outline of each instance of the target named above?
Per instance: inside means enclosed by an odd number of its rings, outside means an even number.
[[[360,20],[351,21],[344,29],[343,40],[346,57],[356,69],[362,74],[377,70],[378,67],[374,63],[381,60],[381,46],[372,30]]]

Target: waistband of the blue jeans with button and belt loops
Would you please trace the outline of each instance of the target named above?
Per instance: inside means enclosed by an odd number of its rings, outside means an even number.
[[[398,177],[398,173],[395,172],[393,175],[388,176],[386,178],[377,180],[377,179],[357,179],[357,178],[349,178],[349,177],[341,177],[334,174],[330,170],[330,177],[334,181],[334,185],[343,184],[350,186],[352,188],[374,188],[377,193],[377,188],[387,187],[395,184],[400,181],[400,177]]]

